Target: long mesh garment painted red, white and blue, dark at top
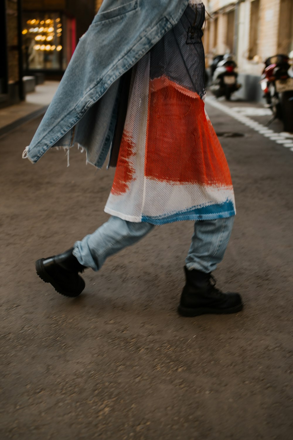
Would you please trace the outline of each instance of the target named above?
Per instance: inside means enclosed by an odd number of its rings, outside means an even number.
[[[164,224],[235,215],[231,175],[204,108],[202,3],[134,66],[105,212]]]

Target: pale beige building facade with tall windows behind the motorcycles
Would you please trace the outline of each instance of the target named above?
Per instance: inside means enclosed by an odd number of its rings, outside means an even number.
[[[235,55],[238,94],[259,100],[259,79],[264,60],[293,51],[293,0],[210,0],[205,2],[211,18],[203,38],[207,64],[225,52]]]

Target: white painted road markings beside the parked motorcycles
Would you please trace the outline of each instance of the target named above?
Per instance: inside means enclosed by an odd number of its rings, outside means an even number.
[[[233,117],[242,124],[247,125],[250,128],[253,128],[256,132],[267,137],[270,140],[275,141],[282,145],[283,147],[293,147],[293,134],[291,133],[277,133],[270,128],[267,128],[265,125],[260,124],[257,121],[253,121],[248,116],[267,116],[271,115],[271,110],[268,109],[259,109],[255,107],[228,107],[222,103],[219,103],[216,98],[212,98],[211,96],[206,96],[206,103],[211,106],[217,108],[218,110],[222,110],[224,113]],[[293,148],[290,148],[290,151],[293,151]]]

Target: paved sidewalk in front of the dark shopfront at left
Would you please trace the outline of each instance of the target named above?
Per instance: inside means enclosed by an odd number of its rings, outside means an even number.
[[[45,81],[28,93],[25,101],[0,109],[0,136],[45,113],[58,85],[59,81]]]

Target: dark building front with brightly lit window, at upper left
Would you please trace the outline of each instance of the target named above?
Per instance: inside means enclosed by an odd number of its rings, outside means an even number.
[[[40,78],[61,79],[96,7],[96,0],[0,1],[0,107],[25,99],[29,81],[34,88]]]

